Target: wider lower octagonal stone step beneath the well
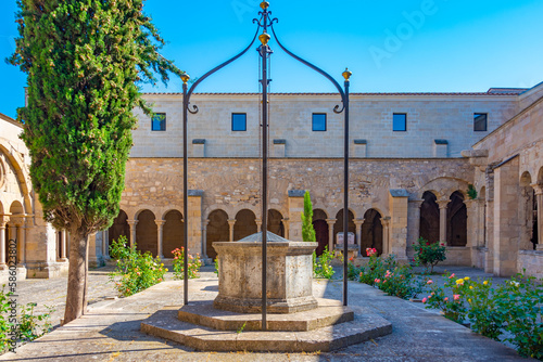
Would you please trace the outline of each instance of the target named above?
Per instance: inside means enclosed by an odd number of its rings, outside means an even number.
[[[201,351],[316,352],[356,345],[392,333],[392,324],[369,310],[354,320],[307,332],[217,331],[177,319],[178,307],[162,309],[141,332]]]

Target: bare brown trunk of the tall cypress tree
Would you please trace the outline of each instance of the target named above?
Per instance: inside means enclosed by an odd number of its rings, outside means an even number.
[[[89,235],[72,232],[70,268],[64,323],[78,319],[87,311],[87,273]]]

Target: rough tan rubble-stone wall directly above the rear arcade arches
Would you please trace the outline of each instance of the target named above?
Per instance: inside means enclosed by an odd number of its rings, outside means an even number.
[[[252,158],[189,159],[189,190],[202,190],[189,199],[189,245],[191,253],[203,250],[202,220],[217,209],[235,219],[242,209],[261,219],[261,161]],[[268,208],[280,212],[288,223],[286,234],[301,240],[300,212],[303,197],[290,196],[292,190],[310,190],[315,209],[336,219],[343,208],[343,161],[341,159],[273,159],[269,161]],[[151,210],[157,220],[172,210],[182,212],[182,159],[131,158],[126,168],[126,189],[121,208],[136,220]],[[409,215],[408,198],[419,199],[427,190],[442,197],[465,192],[472,169],[466,159],[354,159],[350,165],[350,210],[364,219],[372,208],[391,220],[390,253],[405,257],[408,224],[418,230],[418,216]],[[391,193],[391,189],[394,193]],[[201,204],[200,204],[201,203]],[[413,220],[413,219],[416,220]],[[409,220],[413,220],[409,222]]]

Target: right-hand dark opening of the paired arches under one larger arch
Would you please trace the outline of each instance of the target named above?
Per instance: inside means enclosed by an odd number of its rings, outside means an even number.
[[[446,245],[466,246],[468,242],[468,209],[459,191],[451,194],[446,206]]]

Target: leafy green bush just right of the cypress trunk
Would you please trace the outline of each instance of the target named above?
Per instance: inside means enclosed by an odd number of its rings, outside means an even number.
[[[115,271],[111,272],[110,281],[115,283],[117,293],[123,297],[131,296],[164,281],[166,268],[159,257],[146,251],[136,250],[136,243],[127,247],[126,237],[119,236],[111,245],[111,256],[117,259]]]

